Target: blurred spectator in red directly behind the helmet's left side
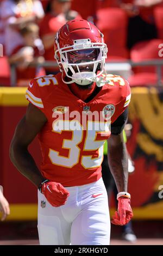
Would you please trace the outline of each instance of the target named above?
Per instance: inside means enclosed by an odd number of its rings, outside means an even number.
[[[54,61],[54,36],[67,21],[81,19],[77,11],[71,10],[71,0],[52,0],[47,6],[47,13],[40,23],[40,36],[45,47],[45,60]],[[46,74],[56,74],[56,68],[46,68]]]

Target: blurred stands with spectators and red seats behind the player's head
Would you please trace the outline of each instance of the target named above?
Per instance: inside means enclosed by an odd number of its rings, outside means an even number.
[[[66,21],[82,18],[95,23],[104,34],[108,62],[160,58],[162,0],[1,0],[0,86],[27,86],[32,77],[56,74],[58,67],[51,63],[54,62],[54,35]],[[11,77],[14,64],[17,68]],[[108,70],[111,68],[108,66]],[[130,86],[158,81],[153,66],[119,65],[117,69],[129,79]]]

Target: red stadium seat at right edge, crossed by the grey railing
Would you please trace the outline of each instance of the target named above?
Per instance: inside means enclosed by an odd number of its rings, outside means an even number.
[[[137,43],[130,51],[131,60],[133,62],[141,62],[149,59],[161,59],[159,45],[162,43],[163,41],[160,39]],[[129,79],[130,86],[155,84],[157,81],[156,68],[154,66],[137,66],[134,68],[134,73]]]

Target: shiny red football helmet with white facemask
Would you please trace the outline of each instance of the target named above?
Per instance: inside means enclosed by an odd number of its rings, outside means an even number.
[[[55,36],[54,57],[60,71],[80,85],[98,81],[105,71],[104,64],[108,48],[103,34],[86,20],[68,21]]]

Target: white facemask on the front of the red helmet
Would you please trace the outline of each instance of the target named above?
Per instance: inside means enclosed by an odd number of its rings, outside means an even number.
[[[62,81],[64,83],[70,84],[70,83],[77,83],[81,86],[86,86],[87,84],[90,84],[91,82],[96,82],[98,87],[103,86],[106,83],[105,77],[101,77],[102,74],[105,73],[104,64],[106,59],[106,53],[108,51],[108,48],[104,42],[91,42],[90,39],[80,39],[80,40],[74,40],[74,44],[71,46],[66,46],[63,48],[59,47],[59,43],[56,40],[58,50],[55,51],[55,59],[57,60],[59,66],[61,67],[62,71]],[[91,59],[91,57],[86,60],[86,62],[83,61],[80,63],[73,63],[73,52],[79,53],[86,51],[89,53],[93,51],[97,51],[98,54],[96,58]],[[69,58],[70,53],[72,53],[72,59]],[[58,57],[60,56],[60,58]],[[91,56],[91,55],[90,55]],[[74,54],[74,58],[76,58],[76,54]],[[86,57],[85,57],[86,59]],[[89,71],[81,71],[81,66],[91,66],[92,69]],[[97,67],[100,67],[99,72],[97,74]],[[71,79],[71,81],[65,81],[63,77],[63,70],[65,71],[65,75]],[[68,72],[69,71],[69,72]],[[71,72],[70,72],[71,71]],[[71,75],[70,75],[71,73]]]

